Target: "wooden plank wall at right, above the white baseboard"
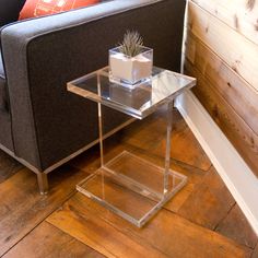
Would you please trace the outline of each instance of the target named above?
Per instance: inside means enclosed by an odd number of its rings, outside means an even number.
[[[194,93],[258,177],[258,1],[189,0],[185,44]]]

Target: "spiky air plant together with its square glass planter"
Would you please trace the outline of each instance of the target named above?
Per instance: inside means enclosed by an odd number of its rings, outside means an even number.
[[[153,49],[143,46],[138,32],[127,31],[122,43],[109,50],[109,80],[133,89],[151,77]]]

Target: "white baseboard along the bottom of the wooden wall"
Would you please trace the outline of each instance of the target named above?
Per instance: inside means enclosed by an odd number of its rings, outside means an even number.
[[[258,178],[190,91],[175,106],[258,235]]]

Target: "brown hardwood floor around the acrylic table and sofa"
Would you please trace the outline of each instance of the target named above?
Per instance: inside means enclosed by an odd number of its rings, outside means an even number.
[[[257,258],[257,236],[183,118],[174,118],[172,168],[188,184],[142,228],[75,191],[99,165],[97,146],[52,172],[47,196],[32,172],[0,152],[0,256]],[[113,140],[161,165],[164,119],[157,113]]]

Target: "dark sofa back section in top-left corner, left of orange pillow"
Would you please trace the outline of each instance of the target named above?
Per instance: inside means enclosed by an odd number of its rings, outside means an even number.
[[[19,13],[25,0],[1,0],[0,1],[0,27],[17,21]]]

